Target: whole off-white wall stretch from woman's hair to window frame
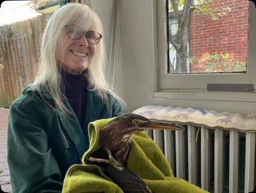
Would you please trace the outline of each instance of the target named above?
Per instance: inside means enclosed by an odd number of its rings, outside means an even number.
[[[114,89],[126,102],[130,112],[152,103],[154,89],[154,56],[157,35],[154,35],[153,3],[155,0],[117,0],[120,37],[117,38]],[[106,51],[111,68],[111,29],[114,0],[90,1],[105,29]],[[112,20],[111,20],[112,19]],[[109,74],[109,73],[108,73]]]

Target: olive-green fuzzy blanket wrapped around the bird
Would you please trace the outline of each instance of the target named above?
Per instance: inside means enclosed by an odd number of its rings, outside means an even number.
[[[113,119],[113,118],[111,118]],[[111,119],[90,122],[90,147],[84,153],[83,164],[75,164],[66,173],[63,193],[105,192],[123,193],[118,185],[105,176],[104,169],[96,164],[89,164],[90,156],[102,157],[99,145],[99,131]],[[127,167],[137,173],[154,193],[205,193],[203,189],[184,179],[175,178],[160,148],[144,132],[133,134]]]

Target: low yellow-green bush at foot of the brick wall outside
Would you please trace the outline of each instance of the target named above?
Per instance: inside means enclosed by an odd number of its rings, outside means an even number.
[[[239,62],[229,53],[205,54],[204,72],[243,72],[246,63]]]

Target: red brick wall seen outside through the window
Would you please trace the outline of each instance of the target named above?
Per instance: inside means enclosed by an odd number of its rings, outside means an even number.
[[[233,59],[246,62],[248,5],[248,0],[214,0],[214,8],[231,8],[216,21],[194,11],[190,28],[190,55],[194,59],[191,72],[203,71],[206,53],[228,53]]]

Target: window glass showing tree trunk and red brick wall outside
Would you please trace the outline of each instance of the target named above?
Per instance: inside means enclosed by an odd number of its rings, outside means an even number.
[[[248,0],[175,2],[166,1],[169,74],[246,72]]]

